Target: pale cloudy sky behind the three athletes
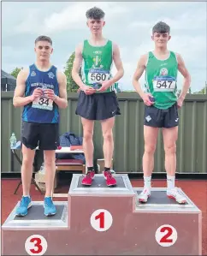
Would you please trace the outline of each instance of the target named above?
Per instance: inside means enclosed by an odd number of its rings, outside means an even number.
[[[64,71],[75,46],[90,38],[86,10],[97,6],[105,12],[103,36],[119,45],[125,74],[122,90],[133,90],[132,77],[139,57],[153,51],[151,28],[164,21],[171,28],[169,50],[180,53],[192,76],[192,92],[207,80],[207,3],[204,2],[3,2],[2,69],[10,73],[35,61],[34,40],[53,40],[51,62]],[[115,74],[115,67],[113,68]],[[141,78],[144,85],[145,75]],[[178,75],[178,88],[182,86]]]

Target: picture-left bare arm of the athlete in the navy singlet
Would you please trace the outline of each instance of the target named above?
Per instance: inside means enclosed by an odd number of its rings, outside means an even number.
[[[21,107],[31,103],[35,98],[41,97],[42,90],[37,88],[33,91],[33,94],[27,97],[24,97],[27,76],[29,74],[29,69],[22,69],[16,79],[16,87],[13,98],[13,104],[15,107]]]

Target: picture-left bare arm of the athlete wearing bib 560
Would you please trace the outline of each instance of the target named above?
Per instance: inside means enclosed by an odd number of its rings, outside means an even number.
[[[80,44],[76,47],[75,49],[75,53],[74,53],[74,65],[72,68],[72,77],[74,82],[80,86],[80,90],[84,91],[86,94],[92,94],[94,92],[96,92],[95,89],[93,89],[90,86],[86,86],[83,81],[80,78],[79,75],[79,70],[83,61],[83,57],[82,57],[82,50],[83,50],[83,45]]]

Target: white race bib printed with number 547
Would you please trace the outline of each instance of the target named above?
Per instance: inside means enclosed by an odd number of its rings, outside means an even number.
[[[171,77],[156,77],[153,80],[154,92],[174,92],[176,80]]]

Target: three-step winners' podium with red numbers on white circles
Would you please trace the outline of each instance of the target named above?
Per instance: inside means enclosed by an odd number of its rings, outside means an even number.
[[[3,255],[201,255],[201,211],[185,194],[186,205],[152,188],[140,204],[142,188],[127,175],[115,175],[109,188],[102,174],[91,187],[74,175],[68,201],[54,202],[57,213],[44,217],[43,202],[33,202],[26,217],[14,210],[2,226]]]

